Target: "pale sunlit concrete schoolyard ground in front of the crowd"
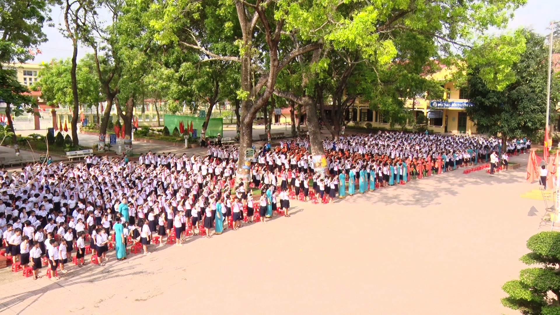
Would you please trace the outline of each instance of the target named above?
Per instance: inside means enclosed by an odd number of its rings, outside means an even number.
[[[519,314],[501,286],[525,268],[526,240],[550,230],[543,201],[520,197],[533,188],[522,164],[291,201],[291,217],[125,261],[110,251],[58,281],[0,271],[0,313]]]

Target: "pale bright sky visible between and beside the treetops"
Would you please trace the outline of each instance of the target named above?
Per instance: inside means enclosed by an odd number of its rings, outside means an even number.
[[[44,27],[48,41],[40,45],[41,54],[35,57],[33,63],[48,62],[53,58],[72,57],[72,41],[64,38],[58,30],[58,24],[64,24],[64,17],[58,8],[52,11],[53,23],[56,27]],[[514,19],[510,22],[508,29],[517,27],[530,27],[541,34],[548,34],[547,27],[550,21],[560,21],[560,10],[558,10],[558,0],[528,0],[527,4],[515,12]],[[91,48],[79,47],[78,59],[82,58]]]

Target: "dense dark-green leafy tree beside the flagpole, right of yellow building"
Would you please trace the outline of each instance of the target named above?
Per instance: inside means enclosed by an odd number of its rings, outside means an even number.
[[[490,45],[484,62],[478,62],[468,71],[469,101],[472,104],[466,112],[477,126],[477,131],[490,135],[501,135],[502,146],[512,137],[534,136],[535,132],[544,128],[547,108],[547,72],[548,50],[544,37],[533,31],[524,30],[526,49],[518,57],[512,53],[496,52],[516,50],[517,44],[511,49],[494,49]],[[496,43],[496,41],[492,41]],[[502,45],[502,44],[500,44]],[[493,71],[503,64],[502,59],[514,60],[511,71],[505,76],[498,76]],[[493,79],[496,80],[493,80]],[[508,83],[510,82],[510,83]],[[558,80],[552,82],[552,106],[556,104]],[[554,108],[551,108],[552,112]]]

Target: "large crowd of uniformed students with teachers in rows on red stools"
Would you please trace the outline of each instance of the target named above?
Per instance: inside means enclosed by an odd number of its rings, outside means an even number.
[[[530,145],[521,141],[520,149]],[[93,155],[77,164],[2,170],[2,244],[14,261],[32,265],[34,279],[43,256],[48,268],[64,274],[73,254],[81,266],[90,248],[103,266],[113,244],[123,260],[127,245],[139,244],[149,254],[156,237],[160,246],[168,243],[164,238],[178,245],[192,235],[209,238],[274,214],[290,216],[290,199],[298,196],[328,202],[356,193],[356,184],[364,193],[486,161],[501,140],[379,132],[323,144],[324,172],[315,172],[318,160],[307,138],[265,144],[250,166],[250,186],[262,192],[258,198],[246,183],[234,186],[239,152],[233,145],[210,145],[207,156],[150,151],[138,161]]]

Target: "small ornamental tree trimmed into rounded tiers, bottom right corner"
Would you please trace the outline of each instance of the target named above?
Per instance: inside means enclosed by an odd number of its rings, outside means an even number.
[[[509,295],[502,299],[505,307],[524,315],[560,314],[560,232],[545,231],[527,240],[531,251],[520,261],[541,267],[519,272],[519,280],[507,281],[502,289]]]

